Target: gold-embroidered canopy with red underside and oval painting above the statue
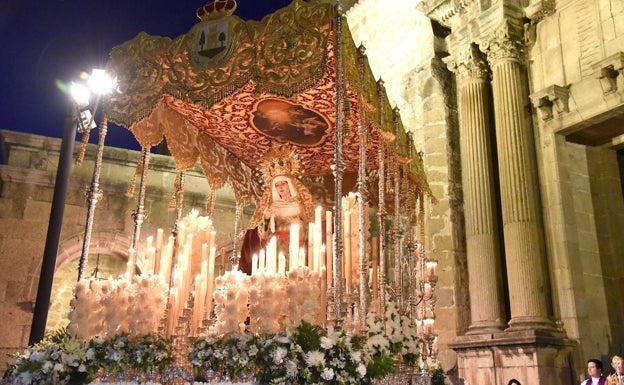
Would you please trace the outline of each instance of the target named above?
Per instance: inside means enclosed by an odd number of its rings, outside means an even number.
[[[368,171],[385,146],[412,194],[429,192],[422,165],[409,161],[415,150],[398,110],[334,4],[295,0],[260,22],[231,15],[235,8],[217,0],[175,40],[140,33],[115,47],[107,68],[120,93],[108,119],[144,148],[166,139],[178,170],[199,161],[211,189],[228,183],[249,203],[261,193],[259,162],[276,144],[296,151],[306,176],[332,175],[338,117],[345,175],[357,174],[363,132]]]

